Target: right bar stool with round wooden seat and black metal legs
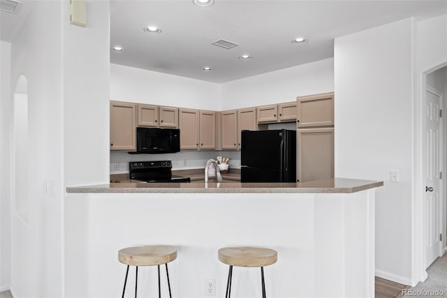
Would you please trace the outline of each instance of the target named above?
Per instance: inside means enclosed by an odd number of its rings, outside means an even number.
[[[261,285],[263,298],[265,298],[264,267],[274,264],[278,260],[276,250],[270,248],[235,247],[219,249],[219,260],[230,265],[228,281],[226,283],[225,298],[231,295],[231,278],[233,266],[236,267],[261,267]]]

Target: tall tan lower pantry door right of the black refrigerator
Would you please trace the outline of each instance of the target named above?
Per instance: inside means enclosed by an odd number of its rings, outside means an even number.
[[[298,129],[296,139],[299,182],[333,178],[334,129]]]

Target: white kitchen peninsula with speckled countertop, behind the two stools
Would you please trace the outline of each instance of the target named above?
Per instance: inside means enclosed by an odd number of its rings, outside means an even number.
[[[178,250],[170,264],[175,297],[205,297],[208,279],[223,297],[228,268],[217,250],[261,246],[279,254],[265,269],[268,297],[374,297],[374,201],[381,185],[334,178],[68,187],[66,287],[78,297],[117,296],[125,274],[118,250],[166,244]],[[139,283],[139,295],[154,295],[156,269],[142,268]],[[259,297],[258,283],[258,271],[235,269],[233,297]]]

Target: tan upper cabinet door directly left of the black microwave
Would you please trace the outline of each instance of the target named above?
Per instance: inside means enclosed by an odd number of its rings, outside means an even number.
[[[110,101],[110,150],[136,150],[136,105]]]

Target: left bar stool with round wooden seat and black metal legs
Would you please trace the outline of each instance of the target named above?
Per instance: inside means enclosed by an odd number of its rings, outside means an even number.
[[[127,265],[126,278],[124,279],[123,295],[126,291],[127,275],[129,274],[129,266],[135,266],[135,298],[137,297],[138,282],[138,266],[154,266],[157,265],[159,271],[159,297],[161,297],[160,289],[160,265],[165,264],[166,276],[168,278],[169,297],[170,282],[168,273],[168,263],[177,258],[177,250],[173,246],[136,246],[123,248],[118,252],[118,260]]]

